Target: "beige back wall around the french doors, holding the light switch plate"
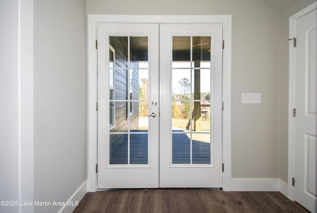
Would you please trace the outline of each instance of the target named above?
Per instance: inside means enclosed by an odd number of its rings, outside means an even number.
[[[232,177],[279,177],[280,15],[275,10],[262,0],[86,3],[88,14],[232,14]],[[242,104],[242,92],[261,92],[262,104]]]

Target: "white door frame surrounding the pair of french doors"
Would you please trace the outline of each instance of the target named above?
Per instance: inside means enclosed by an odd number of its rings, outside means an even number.
[[[225,165],[223,189],[231,185],[231,15],[88,15],[88,74],[87,74],[87,191],[97,189],[97,23],[221,23],[223,25],[223,73],[222,73],[222,160]]]

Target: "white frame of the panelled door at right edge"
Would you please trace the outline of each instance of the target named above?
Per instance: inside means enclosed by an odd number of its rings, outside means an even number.
[[[296,38],[296,21],[317,8],[317,2],[302,9],[289,18],[289,38]],[[295,108],[295,61],[296,48],[293,42],[289,43],[289,104],[288,104],[288,198],[294,200],[294,191],[292,186],[292,177],[294,177],[294,134],[295,118],[293,117],[293,108]]]

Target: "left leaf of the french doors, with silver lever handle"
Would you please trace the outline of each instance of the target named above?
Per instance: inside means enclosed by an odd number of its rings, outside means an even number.
[[[97,188],[159,187],[159,25],[97,30]]]

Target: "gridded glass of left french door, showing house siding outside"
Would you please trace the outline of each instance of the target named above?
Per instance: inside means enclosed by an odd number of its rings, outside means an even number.
[[[147,165],[148,37],[109,36],[109,164]]]

